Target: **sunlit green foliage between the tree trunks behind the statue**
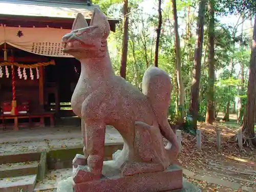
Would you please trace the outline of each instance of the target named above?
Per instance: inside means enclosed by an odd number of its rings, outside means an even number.
[[[152,12],[146,12],[140,6],[140,1],[129,1],[129,45],[127,57],[126,79],[141,90],[141,82],[144,71],[154,62],[156,27],[158,23],[157,1],[156,6],[152,6]],[[159,63],[158,67],[164,69],[172,79],[172,97],[169,106],[168,119],[176,121],[179,109],[176,101],[178,99],[177,76],[175,67],[175,41],[174,26],[172,14],[172,1],[166,0],[162,4],[162,32],[160,36],[159,46]],[[227,15],[232,13],[243,13],[248,18],[248,14],[253,12],[253,2],[248,5],[242,5],[242,0],[220,0],[216,1],[216,14]],[[245,2],[250,2],[246,0]],[[94,3],[99,4],[101,9],[112,18],[122,18],[122,1],[120,0],[95,0]],[[191,6],[189,20],[187,20],[188,5]],[[242,7],[238,8],[239,5]],[[194,49],[196,44],[197,31],[197,11],[198,1],[177,1],[178,24],[181,40],[181,59],[182,73],[185,91],[185,111],[188,110],[190,104],[190,86],[192,82],[192,70],[194,63]],[[255,13],[255,12],[254,12]],[[186,34],[187,26],[190,26],[190,36]],[[199,118],[204,121],[206,114],[206,94],[208,89],[208,11],[206,6],[206,20],[204,30],[202,69],[199,90]],[[243,38],[238,27],[241,25],[241,19],[238,24],[225,25],[219,20],[215,21],[215,108],[216,112],[225,112],[226,103],[229,101],[230,106],[237,102],[238,97],[243,98],[246,102],[246,88],[248,81],[248,63],[250,59],[250,39],[249,30],[245,30]],[[241,26],[240,26],[241,27]],[[117,24],[116,33],[111,33],[109,37],[109,50],[111,53],[113,68],[116,74],[119,74],[120,55],[122,44],[122,22]],[[232,60],[231,60],[232,59]],[[233,69],[231,71],[230,64],[232,61]],[[245,82],[242,84],[240,80],[241,66],[244,66]],[[243,87],[243,89],[242,89]],[[186,116],[184,127],[187,132],[194,134],[190,130],[191,127],[189,116]]]

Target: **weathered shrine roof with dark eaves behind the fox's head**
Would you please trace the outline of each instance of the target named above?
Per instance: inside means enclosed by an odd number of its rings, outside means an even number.
[[[90,22],[94,8],[87,0],[0,0],[0,24],[18,27],[62,27],[71,29],[77,13]],[[119,22],[108,18],[112,31]]]

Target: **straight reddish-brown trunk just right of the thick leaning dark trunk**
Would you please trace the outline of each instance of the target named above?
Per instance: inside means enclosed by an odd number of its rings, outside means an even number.
[[[209,55],[208,55],[208,93],[207,93],[207,112],[205,122],[212,124],[215,119],[215,106],[214,106],[214,81],[215,81],[215,58],[214,58],[214,39],[215,39],[215,0],[209,0]]]

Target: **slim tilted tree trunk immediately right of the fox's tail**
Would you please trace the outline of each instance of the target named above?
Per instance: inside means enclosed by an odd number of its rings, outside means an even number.
[[[180,36],[178,31],[178,16],[176,8],[176,0],[172,0],[173,4],[173,15],[174,15],[174,34],[175,34],[175,54],[176,54],[176,69],[177,69],[177,81],[179,87],[179,111],[180,111],[180,121],[183,122],[185,112],[184,112],[184,85],[182,79],[181,71],[181,50],[180,50]]]

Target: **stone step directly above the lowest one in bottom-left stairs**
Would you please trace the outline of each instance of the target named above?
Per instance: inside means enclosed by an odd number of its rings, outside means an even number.
[[[37,175],[38,165],[38,161],[1,164],[0,179],[26,175]]]

